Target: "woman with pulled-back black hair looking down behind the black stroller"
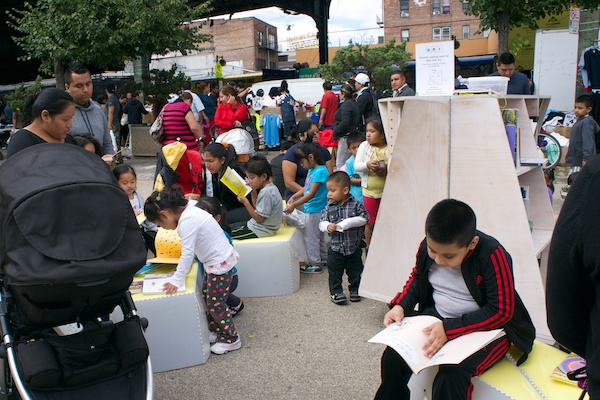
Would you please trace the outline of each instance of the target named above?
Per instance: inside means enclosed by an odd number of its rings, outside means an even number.
[[[70,143],[77,146],[75,139],[69,135],[75,103],[64,90],[45,89],[35,96],[29,96],[25,115],[30,123],[11,137],[8,157],[41,143]]]

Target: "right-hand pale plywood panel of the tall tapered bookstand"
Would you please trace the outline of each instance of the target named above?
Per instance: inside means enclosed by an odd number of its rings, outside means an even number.
[[[526,113],[525,103],[521,105],[519,115]],[[539,337],[550,337],[539,266],[497,102],[482,97],[453,99],[450,141],[450,197],[469,204],[478,216],[478,228],[510,253],[515,287]],[[530,174],[536,171],[539,168]],[[530,196],[538,200],[547,197],[540,187],[543,177],[539,178],[539,185],[530,187]]]

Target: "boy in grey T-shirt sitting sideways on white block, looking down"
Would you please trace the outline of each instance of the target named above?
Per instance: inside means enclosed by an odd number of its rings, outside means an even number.
[[[271,165],[265,157],[253,156],[243,168],[247,176],[246,183],[252,187],[252,202],[248,197],[238,196],[237,199],[246,207],[252,219],[231,224],[231,238],[243,240],[273,236],[281,226],[283,207],[279,189],[271,180]]]

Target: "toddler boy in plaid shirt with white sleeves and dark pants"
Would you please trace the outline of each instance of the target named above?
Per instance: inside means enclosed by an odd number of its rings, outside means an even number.
[[[358,286],[363,271],[362,232],[369,220],[369,214],[350,194],[350,177],[342,171],[329,175],[327,186],[327,206],[321,212],[319,229],[329,232],[331,242],[327,253],[329,270],[329,293],[335,304],[346,302],[342,289],[344,270],[350,283],[350,301],[360,301]]]

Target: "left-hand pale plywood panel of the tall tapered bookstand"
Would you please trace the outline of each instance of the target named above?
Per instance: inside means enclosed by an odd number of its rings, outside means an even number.
[[[448,195],[449,118],[449,98],[404,101],[362,276],[364,297],[387,302],[402,289],[425,235],[425,217]]]

